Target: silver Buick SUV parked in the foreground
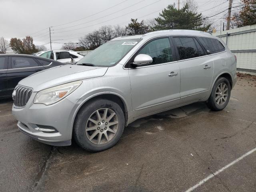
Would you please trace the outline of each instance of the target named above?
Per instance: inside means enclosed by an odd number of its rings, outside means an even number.
[[[198,101],[222,110],[235,83],[236,56],[222,40],[164,30],[115,38],[76,65],[21,80],[12,114],[40,142],[101,151],[139,118]]]

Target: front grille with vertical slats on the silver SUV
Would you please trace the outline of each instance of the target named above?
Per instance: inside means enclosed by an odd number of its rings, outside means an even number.
[[[18,85],[14,89],[14,94],[13,94],[14,105],[16,107],[24,107],[27,104],[32,92],[33,92],[32,89]]]

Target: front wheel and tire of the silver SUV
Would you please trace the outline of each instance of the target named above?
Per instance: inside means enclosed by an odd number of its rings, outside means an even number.
[[[90,152],[99,152],[111,148],[118,142],[124,131],[124,125],[124,112],[117,103],[97,99],[88,102],[78,112],[73,136],[81,148]]]

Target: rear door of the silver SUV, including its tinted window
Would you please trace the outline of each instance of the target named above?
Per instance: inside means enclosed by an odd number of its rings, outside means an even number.
[[[212,83],[213,60],[192,36],[173,36],[172,40],[179,57],[180,98],[186,98],[182,102],[203,98]]]

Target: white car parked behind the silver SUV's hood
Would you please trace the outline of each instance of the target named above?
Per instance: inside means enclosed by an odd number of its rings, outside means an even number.
[[[77,62],[84,57],[72,50],[50,50],[38,54],[38,56],[53,59],[61,63],[70,63],[72,59],[74,62]]]

